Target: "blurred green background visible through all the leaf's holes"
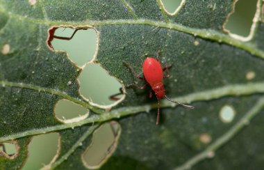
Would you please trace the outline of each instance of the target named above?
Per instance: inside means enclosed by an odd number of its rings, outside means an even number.
[[[173,13],[181,3],[180,0],[163,0],[165,8]],[[250,26],[254,13],[256,11],[256,0],[239,0],[236,3],[236,13],[229,17],[229,22],[226,24],[226,29],[240,36],[249,34]],[[69,37],[73,33],[72,29],[58,29],[56,36]],[[81,85],[80,93],[84,98],[92,100],[100,105],[109,105],[113,101],[108,100],[108,97],[119,92],[121,86],[113,77],[108,76],[106,70],[100,65],[88,64],[96,51],[97,36],[93,29],[77,31],[72,40],[58,40],[52,42],[54,49],[65,50],[76,65],[83,67],[83,72],[79,77]],[[79,105],[75,105],[67,100],[58,102],[56,116],[62,121],[76,116],[82,116],[87,113],[87,110]],[[109,142],[110,141],[110,142]],[[97,164],[104,157],[108,146],[113,141],[113,133],[110,126],[106,125],[96,133],[94,146],[89,150],[86,157],[90,164]],[[8,153],[15,153],[15,148],[12,144],[6,144]],[[0,146],[1,149],[1,146]],[[45,164],[49,164],[58,149],[58,134],[42,134],[33,137],[28,148],[28,161],[24,166],[24,170],[40,169]],[[92,157],[90,156],[92,155]],[[91,158],[89,158],[91,157]]]

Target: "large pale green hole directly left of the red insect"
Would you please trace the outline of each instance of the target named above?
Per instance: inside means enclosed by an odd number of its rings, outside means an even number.
[[[79,77],[81,84],[81,95],[92,101],[95,105],[111,105],[115,100],[110,100],[110,95],[119,93],[122,85],[108,75],[104,68],[97,64],[88,64],[85,66]],[[118,96],[122,98],[122,95]]]

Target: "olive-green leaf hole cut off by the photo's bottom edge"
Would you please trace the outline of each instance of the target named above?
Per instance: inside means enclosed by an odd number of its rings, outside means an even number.
[[[60,147],[59,134],[50,133],[33,137],[28,145],[28,160],[23,169],[40,169],[49,164],[58,153]]]

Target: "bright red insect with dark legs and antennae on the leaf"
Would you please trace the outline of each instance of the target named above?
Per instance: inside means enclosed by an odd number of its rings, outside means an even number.
[[[165,65],[165,68],[162,68],[162,66],[160,65],[160,62],[157,61],[156,59],[152,58],[152,57],[147,57],[147,59],[145,59],[144,63],[143,63],[143,74],[144,77],[141,77],[140,75],[135,73],[135,70],[133,70],[133,68],[131,67],[131,65],[129,65],[128,63],[124,62],[124,65],[126,65],[126,67],[128,67],[131,72],[133,73],[133,75],[135,75],[135,77],[137,77],[138,79],[145,79],[147,81],[147,84],[149,84],[151,86],[151,89],[154,91],[156,98],[158,100],[158,113],[157,113],[157,119],[156,119],[156,125],[158,125],[159,121],[160,121],[160,99],[166,98],[167,100],[169,100],[170,102],[175,102],[178,105],[181,105],[187,109],[194,109],[195,107],[192,107],[190,105],[183,105],[180,102],[177,101],[173,101],[170,98],[168,98],[165,95],[165,89],[164,89],[164,85],[163,85],[163,78],[167,78],[170,77],[169,72],[168,72],[168,68],[167,65]],[[163,71],[167,71],[167,75],[163,75]],[[138,86],[137,84],[135,84],[135,82],[133,84],[129,84],[129,86],[135,86],[136,88],[140,88],[143,89],[147,86],[147,84],[145,84],[144,86]],[[115,94],[112,95],[110,98],[116,100],[117,98],[115,98],[116,95]],[[149,94],[149,97],[151,98],[151,92]]]

